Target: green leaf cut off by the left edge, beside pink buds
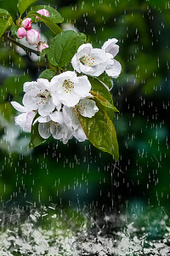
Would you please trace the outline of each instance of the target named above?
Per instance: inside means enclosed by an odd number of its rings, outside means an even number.
[[[13,19],[6,9],[0,9],[0,38],[3,33],[13,24]]]

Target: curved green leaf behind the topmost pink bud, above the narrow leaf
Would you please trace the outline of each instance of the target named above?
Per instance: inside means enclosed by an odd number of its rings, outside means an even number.
[[[54,23],[62,23],[63,22],[63,18],[59,14],[59,12],[56,9],[54,9],[48,5],[36,5],[36,6],[32,7],[31,12],[29,12],[27,16],[30,17],[32,11],[37,12],[39,9],[47,9],[49,12],[48,18],[50,20],[54,21]],[[42,21],[42,20],[38,20],[34,15],[31,15],[31,19],[33,22],[41,22]]]

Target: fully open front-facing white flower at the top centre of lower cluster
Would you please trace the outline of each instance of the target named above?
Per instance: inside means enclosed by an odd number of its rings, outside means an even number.
[[[65,106],[73,107],[82,97],[90,96],[91,84],[88,77],[77,77],[72,71],[54,76],[50,84],[55,105],[59,100]]]

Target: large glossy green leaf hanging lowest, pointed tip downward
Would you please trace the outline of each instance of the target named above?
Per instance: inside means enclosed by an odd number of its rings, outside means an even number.
[[[94,117],[86,118],[79,114],[79,120],[88,140],[104,152],[113,155],[113,158],[119,160],[119,147],[116,139],[116,131],[111,119],[105,113],[103,108],[98,105],[99,111]]]

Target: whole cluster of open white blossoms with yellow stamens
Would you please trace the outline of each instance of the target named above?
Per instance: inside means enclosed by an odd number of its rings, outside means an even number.
[[[15,125],[30,132],[31,125],[38,122],[38,132],[44,139],[52,135],[63,143],[67,143],[71,137],[76,137],[79,142],[86,140],[78,115],[92,118],[99,111],[90,94],[91,84],[86,75],[98,77],[106,72],[112,78],[118,77],[121,65],[114,59],[119,50],[116,42],[114,38],[109,39],[102,49],[82,44],[71,60],[74,72],[60,73],[50,82],[48,79],[26,82],[23,106],[11,102],[21,112],[15,117]]]

